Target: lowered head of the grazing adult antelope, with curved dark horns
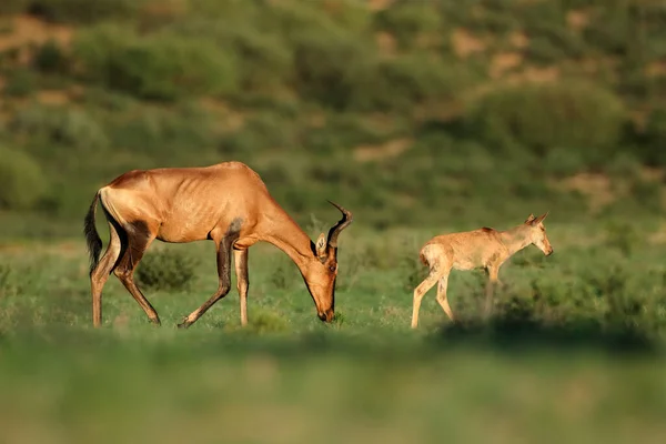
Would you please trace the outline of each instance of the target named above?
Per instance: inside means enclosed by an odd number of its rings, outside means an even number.
[[[342,219],[329,230],[329,235],[321,233],[314,243],[314,258],[307,268],[305,283],[316,305],[320,320],[331,322],[335,311],[335,278],[337,276],[337,236],[352,223],[352,212],[329,201],[342,212]]]

